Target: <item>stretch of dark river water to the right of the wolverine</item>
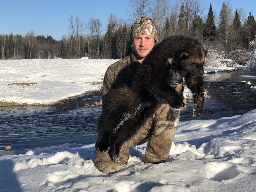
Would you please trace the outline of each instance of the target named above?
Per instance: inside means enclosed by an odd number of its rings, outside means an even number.
[[[205,75],[206,88],[211,99],[206,99],[204,112],[192,116],[193,101],[187,100],[187,108],[180,112],[180,122],[188,120],[218,119],[233,115],[242,115],[256,109],[256,91],[252,85],[241,81],[256,83],[256,74],[243,74],[243,70]]]

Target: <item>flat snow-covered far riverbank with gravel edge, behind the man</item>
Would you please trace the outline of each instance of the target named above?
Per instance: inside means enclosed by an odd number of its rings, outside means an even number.
[[[52,106],[80,95],[97,92],[107,67],[118,60],[32,59],[0,60],[0,107]],[[235,68],[204,67],[207,73]],[[184,97],[192,98],[185,89]],[[96,103],[95,103],[96,102]],[[85,103],[100,106],[101,101]]]

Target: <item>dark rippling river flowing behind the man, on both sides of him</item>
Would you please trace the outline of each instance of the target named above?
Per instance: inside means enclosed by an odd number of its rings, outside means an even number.
[[[192,117],[193,102],[181,111],[180,122],[217,119],[245,114],[256,108],[256,91],[241,80],[255,83],[256,76],[240,76],[241,71],[208,74],[206,84],[211,99],[205,100],[205,110]],[[97,137],[97,120],[101,107],[86,107],[84,103],[99,101],[101,93],[85,94],[62,104],[49,107],[1,107],[0,150],[10,145],[14,149],[35,149],[65,143],[75,146],[91,144]],[[74,145],[73,145],[74,146]]]

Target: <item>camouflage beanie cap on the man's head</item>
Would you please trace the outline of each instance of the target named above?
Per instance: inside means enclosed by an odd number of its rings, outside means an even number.
[[[138,35],[148,35],[157,40],[155,22],[149,17],[141,17],[131,27],[131,40]]]

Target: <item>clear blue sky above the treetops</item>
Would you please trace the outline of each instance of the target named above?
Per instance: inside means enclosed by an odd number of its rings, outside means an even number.
[[[0,34],[13,33],[25,35],[33,29],[35,35],[51,35],[54,39],[61,39],[68,35],[68,18],[78,16],[85,23],[90,17],[102,22],[105,32],[108,17],[111,13],[127,19],[129,0],[0,0]],[[174,4],[176,0],[171,0]],[[210,3],[213,11],[219,16],[223,0],[199,0],[206,8],[207,16]],[[243,8],[245,17],[251,11],[256,18],[256,0],[230,0],[233,13],[235,9]]]

